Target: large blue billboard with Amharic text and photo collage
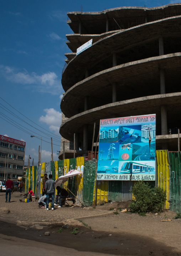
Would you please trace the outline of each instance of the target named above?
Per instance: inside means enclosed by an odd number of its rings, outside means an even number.
[[[155,180],[156,115],[100,120],[97,180]]]

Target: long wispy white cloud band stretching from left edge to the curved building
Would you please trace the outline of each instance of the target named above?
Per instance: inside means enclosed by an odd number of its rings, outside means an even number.
[[[16,68],[1,65],[0,74],[8,81],[23,85],[31,85],[31,87],[34,88],[34,91],[51,94],[59,94],[63,91],[61,81],[58,79],[55,72],[48,71],[42,75],[37,75],[35,72],[29,73],[26,70],[19,71]]]

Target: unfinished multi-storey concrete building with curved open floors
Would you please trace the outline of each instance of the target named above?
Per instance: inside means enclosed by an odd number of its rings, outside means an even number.
[[[178,150],[181,4],[68,12],[60,134],[91,150],[100,119],[156,113],[156,149]],[[76,56],[77,48],[93,40]],[[60,153],[61,157],[62,152]]]

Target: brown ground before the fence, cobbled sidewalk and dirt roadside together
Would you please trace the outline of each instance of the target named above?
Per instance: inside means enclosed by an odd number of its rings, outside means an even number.
[[[37,207],[37,202],[20,203],[18,193],[13,194],[10,204],[4,202],[4,197],[0,194],[0,206],[8,208],[10,213],[0,211],[1,220],[29,222],[17,226],[1,221],[2,235],[109,255],[181,256],[181,220],[173,219],[176,214],[171,211],[146,216],[121,212],[129,209],[129,202],[98,205],[95,209],[64,207],[45,211]],[[161,221],[168,219],[171,221]],[[39,224],[33,226],[33,220]],[[45,223],[49,226],[42,227]],[[45,236],[45,231],[49,231],[50,236]],[[78,234],[71,234],[73,231]]]

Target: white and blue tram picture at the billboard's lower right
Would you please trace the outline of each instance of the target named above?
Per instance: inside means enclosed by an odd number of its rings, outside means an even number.
[[[140,161],[139,161],[140,162]],[[155,172],[155,167],[151,166],[149,164],[142,164],[139,162],[124,162],[123,164],[119,165],[121,166],[121,169],[119,168],[119,173],[147,173],[147,172]],[[151,161],[150,161],[151,162]]]

